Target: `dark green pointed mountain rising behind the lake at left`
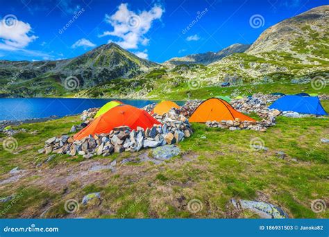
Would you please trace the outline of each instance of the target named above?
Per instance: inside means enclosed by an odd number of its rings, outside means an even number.
[[[60,95],[67,77],[76,78],[83,89],[115,78],[133,78],[158,64],[138,58],[114,43],[103,44],[92,51],[68,60],[10,62],[0,61],[2,96],[12,94],[38,96]]]

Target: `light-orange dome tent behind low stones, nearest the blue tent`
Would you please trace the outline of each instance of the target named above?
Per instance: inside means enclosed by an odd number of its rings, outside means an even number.
[[[205,123],[206,121],[235,120],[236,118],[239,118],[241,121],[255,121],[255,119],[237,112],[225,100],[209,98],[196,107],[193,114],[189,117],[189,122]]]

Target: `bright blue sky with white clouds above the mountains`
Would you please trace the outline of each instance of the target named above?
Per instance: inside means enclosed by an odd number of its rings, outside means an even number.
[[[0,60],[74,58],[115,42],[164,62],[252,44],[269,26],[328,1],[11,0],[0,9]]]

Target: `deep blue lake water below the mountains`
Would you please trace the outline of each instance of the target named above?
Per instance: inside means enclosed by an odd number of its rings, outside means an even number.
[[[49,116],[66,116],[78,114],[85,109],[102,107],[115,99],[89,98],[0,98],[0,121],[39,119]],[[122,100],[126,105],[144,107],[158,100]],[[177,102],[182,105],[183,102]]]

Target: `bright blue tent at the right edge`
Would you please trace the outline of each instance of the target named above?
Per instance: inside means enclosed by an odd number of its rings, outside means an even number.
[[[318,97],[283,96],[274,101],[269,109],[294,111],[301,114],[328,115]]]

